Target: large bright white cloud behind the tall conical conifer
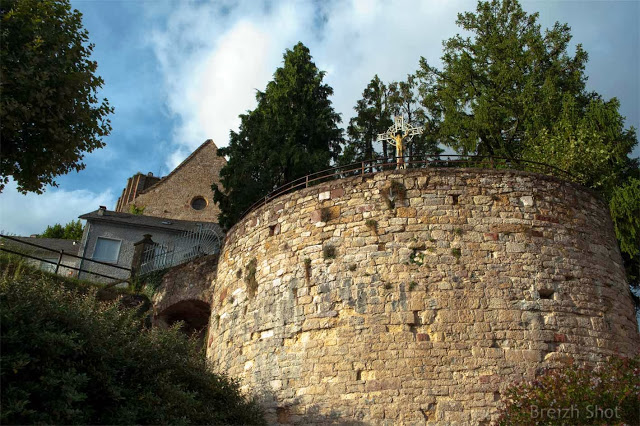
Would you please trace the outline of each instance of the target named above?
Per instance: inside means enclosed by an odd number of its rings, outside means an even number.
[[[181,3],[150,38],[167,105],[180,118],[167,166],[175,167],[205,139],[226,146],[238,115],[255,107],[255,90],[264,90],[285,49],[296,42],[305,43],[327,71],[325,81],[346,123],[374,74],[384,81],[403,79],[420,56],[438,61],[461,7],[410,0]]]

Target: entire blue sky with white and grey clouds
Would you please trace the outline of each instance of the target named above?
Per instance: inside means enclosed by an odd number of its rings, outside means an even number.
[[[440,63],[442,41],[459,32],[456,14],[472,1],[376,0],[72,0],[83,13],[115,107],[107,146],[86,169],[42,195],[0,194],[0,231],[42,232],[99,205],[109,209],[134,173],[166,175],[211,138],[227,144],[238,115],[255,107],[285,49],[302,41],[343,124],[378,74],[387,82],[416,70],[421,56]],[[588,87],[617,97],[627,125],[640,125],[640,2],[524,1],[543,28],[566,22],[589,53]],[[636,148],[635,156],[640,156]]]

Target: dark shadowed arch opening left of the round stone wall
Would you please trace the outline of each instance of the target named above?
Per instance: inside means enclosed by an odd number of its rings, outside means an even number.
[[[210,316],[211,307],[208,303],[191,299],[169,306],[156,316],[155,322],[165,328],[181,322],[180,331],[189,336],[197,335],[198,340],[203,343]]]

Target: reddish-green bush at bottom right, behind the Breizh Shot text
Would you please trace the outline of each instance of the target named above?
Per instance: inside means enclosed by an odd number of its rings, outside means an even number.
[[[640,424],[640,356],[568,366],[507,389],[499,425]]]

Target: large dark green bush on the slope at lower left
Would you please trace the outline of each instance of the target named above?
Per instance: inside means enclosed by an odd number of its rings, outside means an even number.
[[[195,340],[45,274],[2,274],[2,424],[263,424]]]

